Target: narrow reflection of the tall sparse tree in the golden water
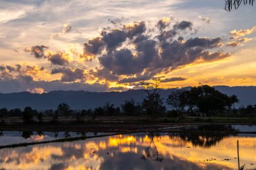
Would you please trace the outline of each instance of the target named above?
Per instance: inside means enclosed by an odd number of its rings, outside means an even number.
[[[141,159],[154,159],[155,161],[162,162],[164,158],[158,153],[154,136],[160,136],[160,134],[158,134],[158,132],[150,132],[150,146],[145,149],[145,154],[142,155]]]

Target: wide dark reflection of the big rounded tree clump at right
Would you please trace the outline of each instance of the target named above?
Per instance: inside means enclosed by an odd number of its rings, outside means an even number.
[[[210,148],[218,144],[223,138],[230,136],[231,132],[232,136],[235,136],[234,132],[238,131],[231,125],[210,125],[189,128],[187,132],[170,133],[169,136],[170,138],[179,136],[182,140],[191,142],[193,146]]]

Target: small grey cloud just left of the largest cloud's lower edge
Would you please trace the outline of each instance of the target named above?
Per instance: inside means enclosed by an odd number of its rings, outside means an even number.
[[[69,68],[58,68],[58,69],[53,69],[51,71],[51,74],[57,74],[57,73],[61,73],[61,81],[63,82],[72,82],[72,81],[84,81],[85,74],[84,74],[84,70],[82,69],[74,69],[71,70]]]

